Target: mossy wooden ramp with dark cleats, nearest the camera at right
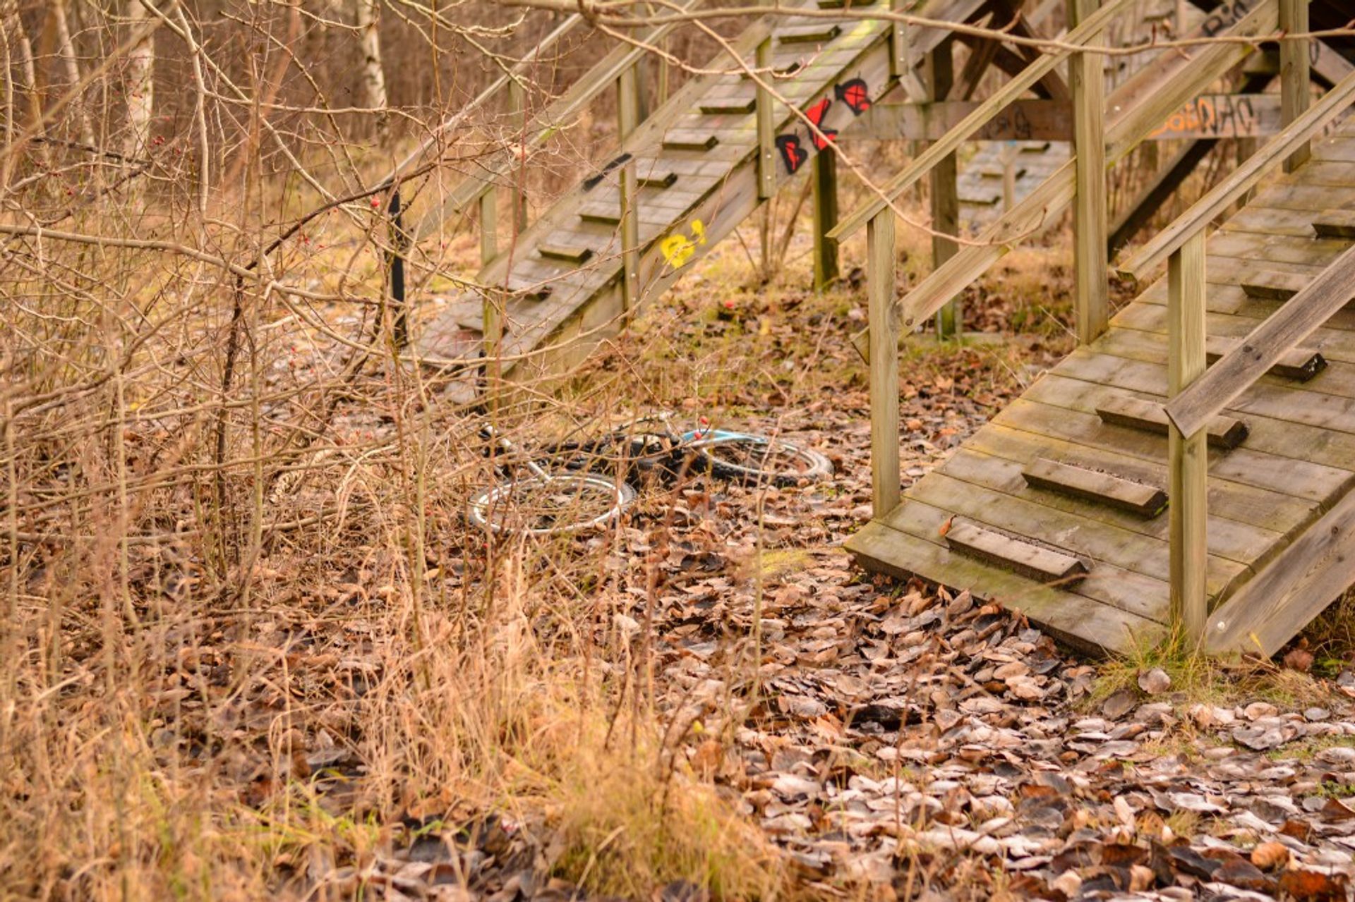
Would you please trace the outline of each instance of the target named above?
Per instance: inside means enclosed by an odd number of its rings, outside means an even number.
[[[1344,125],[1209,238],[1210,360],[1352,244],[1355,126]],[[970,589],[1081,646],[1159,641],[1171,504],[1165,299],[1163,278],[847,547],[869,569]],[[1355,309],[1209,427],[1209,626],[1255,620],[1236,647],[1272,653],[1355,580]],[[1314,597],[1276,614],[1295,586]]]

